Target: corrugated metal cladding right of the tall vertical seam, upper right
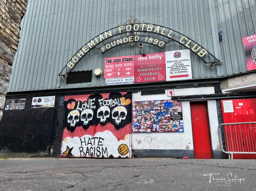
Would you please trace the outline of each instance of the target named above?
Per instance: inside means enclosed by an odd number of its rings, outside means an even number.
[[[242,38],[256,33],[256,0],[215,0],[223,75],[247,71]]]

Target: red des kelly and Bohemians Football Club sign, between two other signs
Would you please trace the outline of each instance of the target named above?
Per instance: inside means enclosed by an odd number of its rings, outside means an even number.
[[[135,83],[166,80],[165,53],[140,54],[135,56]]]

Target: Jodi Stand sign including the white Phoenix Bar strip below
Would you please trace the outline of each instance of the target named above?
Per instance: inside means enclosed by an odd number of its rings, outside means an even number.
[[[134,56],[105,58],[105,86],[134,83]]]

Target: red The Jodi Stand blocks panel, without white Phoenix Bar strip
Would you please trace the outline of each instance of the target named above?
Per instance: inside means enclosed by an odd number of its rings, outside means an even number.
[[[105,58],[104,78],[134,77],[134,56]]]

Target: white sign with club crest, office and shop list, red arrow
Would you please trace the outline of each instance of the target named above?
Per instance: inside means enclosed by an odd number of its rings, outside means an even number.
[[[190,51],[166,52],[166,81],[192,79]]]

